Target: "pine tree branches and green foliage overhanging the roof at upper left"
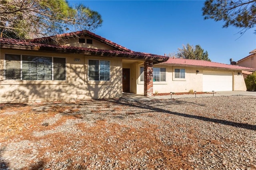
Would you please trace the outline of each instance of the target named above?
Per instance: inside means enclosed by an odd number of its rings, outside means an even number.
[[[4,38],[29,39],[77,30],[94,30],[102,18],[96,11],[66,0],[0,0],[0,31]]]

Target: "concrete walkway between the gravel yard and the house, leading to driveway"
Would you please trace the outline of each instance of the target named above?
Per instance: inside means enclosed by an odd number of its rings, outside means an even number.
[[[244,95],[244,96],[254,96],[256,97],[256,91],[216,91],[214,92],[214,97],[216,96],[234,96],[234,95]],[[193,95],[172,95],[172,99],[178,98],[186,98],[186,97],[195,97]],[[213,97],[213,93],[208,94],[196,94],[196,97]],[[152,96],[152,97],[145,97],[142,94],[132,94],[132,93],[123,93],[122,98],[127,100],[157,100],[157,99],[171,99],[171,95],[168,96]]]

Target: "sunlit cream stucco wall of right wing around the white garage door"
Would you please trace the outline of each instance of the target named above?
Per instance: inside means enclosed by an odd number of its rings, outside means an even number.
[[[140,72],[138,66],[138,83],[137,83],[137,94],[143,94],[144,82],[140,82]],[[196,68],[196,67],[178,67],[170,65],[154,65],[154,67],[166,68],[166,81],[165,82],[153,82],[153,93],[170,93],[170,92],[188,92],[190,89],[193,91],[203,91],[203,71],[223,71],[233,73],[233,90],[234,91],[245,91],[246,85],[242,74],[238,75],[238,72],[225,69],[208,69],[208,68]],[[185,69],[185,79],[175,79],[174,69]],[[196,73],[196,70],[199,73]]]

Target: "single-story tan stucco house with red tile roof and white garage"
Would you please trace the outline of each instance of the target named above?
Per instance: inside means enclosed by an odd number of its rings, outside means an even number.
[[[252,68],[132,51],[89,31],[51,38],[0,38],[0,102],[246,90]]]

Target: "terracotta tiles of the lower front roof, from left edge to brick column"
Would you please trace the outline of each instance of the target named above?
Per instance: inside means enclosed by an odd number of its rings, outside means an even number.
[[[31,43],[26,42],[23,40],[15,40],[15,39],[8,39],[8,38],[0,38],[0,44],[1,47],[4,44],[8,45],[21,45],[21,46],[31,46],[31,47],[48,47],[51,49],[68,49],[68,50],[75,50],[79,51],[81,53],[90,52],[98,55],[104,55],[104,54],[111,54],[112,56],[118,55],[119,57],[131,56],[134,58],[139,59],[156,59],[161,61],[166,61],[168,57],[162,56],[162,55],[156,55],[156,54],[150,54],[150,53],[142,53],[142,52],[136,52],[136,51],[118,51],[118,50],[108,50],[108,49],[94,49],[94,48],[85,48],[85,47],[73,47],[73,46],[66,46],[66,45],[48,45],[48,44],[41,44],[41,43]]]

